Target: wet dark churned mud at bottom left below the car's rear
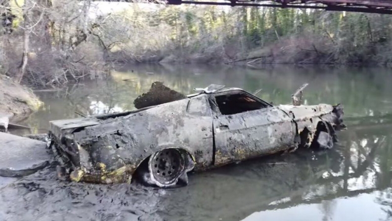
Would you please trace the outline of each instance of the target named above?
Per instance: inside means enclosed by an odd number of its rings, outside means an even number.
[[[52,165],[0,188],[0,220],[163,220],[155,211],[164,193],[126,184],[61,182]]]

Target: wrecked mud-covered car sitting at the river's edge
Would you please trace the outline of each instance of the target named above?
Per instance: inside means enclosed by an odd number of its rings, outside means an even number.
[[[148,105],[135,103],[135,111],[51,121],[59,176],[112,184],[138,174],[147,184],[170,187],[187,184],[191,170],[298,147],[331,148],[335,131],[344,128],[340,105],[272,105],[219,85],[174,97],[140,98]]]

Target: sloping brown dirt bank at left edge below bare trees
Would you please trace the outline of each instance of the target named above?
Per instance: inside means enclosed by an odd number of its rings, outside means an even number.
[[[0,75],[0,117],[12,117],[14,121],[38,109],[39,99],[25,86]]]

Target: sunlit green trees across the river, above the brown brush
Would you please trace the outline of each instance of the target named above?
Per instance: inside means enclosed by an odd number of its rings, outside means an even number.
[[[138,16],[151,17],[151,13]],[[302,60],[316,53],[314,57],[318,58],[312,60],[315,62],[378,63],[378,54],[387,55],[384,63],[392,60],[392,54],[379,47],[380,43],[391,40],[390,16],[313,9],[189,5],[162,7],[152,16],[151,27],[164,24],[171,33],[170,42],[161,45],[170,43],[168,49],[178,49],[180,54],[211,53],[211,50],[227,50],[235,45],[234,54],[243,57],[251,51],[278,45],[279,48],[296,47],[291,51],[294,55],[306,54]]]

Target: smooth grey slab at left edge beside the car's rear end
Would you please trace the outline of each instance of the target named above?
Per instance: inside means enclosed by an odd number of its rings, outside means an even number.
[[[0,176],[29,175],[50,161],[45,142],[0,132]]]

